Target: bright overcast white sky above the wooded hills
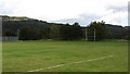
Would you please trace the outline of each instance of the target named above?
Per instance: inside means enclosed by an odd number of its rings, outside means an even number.
[[[0,15],[28,16],[47,22],[78,22],[86,26],[92,21],[128,25],[129,0],[0,0]]]

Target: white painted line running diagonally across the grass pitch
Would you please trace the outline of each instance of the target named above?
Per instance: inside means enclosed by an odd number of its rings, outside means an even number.
[[[96,59],[91,59],[91,60],[87,60],[87,61],[72,62],[72,63],[67,63],[67,64],[60,64],[60,65],[49,66],[49,67],[44,67],[44,69],[31,70],[31,71],[27,71],[27,72],[38,72],[38,71],[42,71],[42,70],[47,70],[47,69],[54,69],[54,67],[60,67],[60,66],[63,66],[63,65],[78,64],[78,63],[82,63],[82,62],[96,61],[96,60],[102,60],[102,59],[112,58],[112,57],[114,57],[114,55],[96,58]]]

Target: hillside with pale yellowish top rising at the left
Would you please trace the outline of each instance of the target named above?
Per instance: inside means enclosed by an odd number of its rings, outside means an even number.
[[[34,27],[50,27],[50,23],[44,21],[39,21],[35,18],[29,18],[26,16],[2,16],[2,30],[3,36],[16,36],[17,29],[24,26],[34,26]],[[6,35],[6,33],[9,33]]]

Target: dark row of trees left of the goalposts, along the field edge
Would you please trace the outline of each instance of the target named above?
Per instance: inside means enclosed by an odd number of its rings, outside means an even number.
[[[34,27],[24,26],[20,28],[21,40],[37,40],[37,39],[62,39],[76,40],[82,38],[81,27],[78,25],[51,25],[51,27]]]

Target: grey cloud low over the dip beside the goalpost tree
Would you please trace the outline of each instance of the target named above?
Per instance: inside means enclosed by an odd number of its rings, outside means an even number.
[[[95,14],[82,13],[77,18],[64,18],[64,20],[57,20],[57,21],[53,21],[53,22],[64,23],[64,24],[66,24],[66,23],[74,24],[75,22],[78,22],[81,26],[87,26],[92,21],[100,20],[101,17],[102,16],[95,15]]]

